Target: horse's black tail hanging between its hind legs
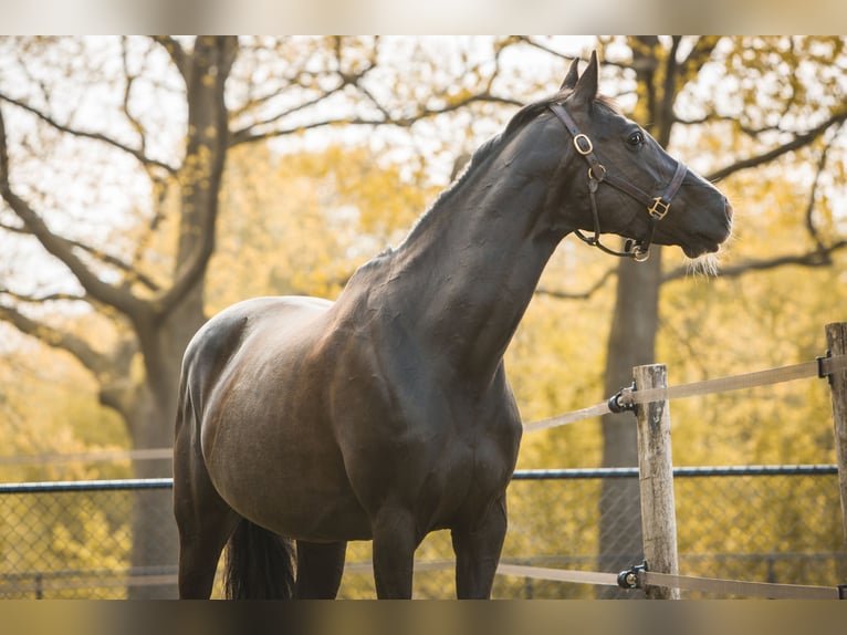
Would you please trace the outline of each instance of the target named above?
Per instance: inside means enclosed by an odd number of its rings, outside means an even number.
[[[223,584],[229,600],[293,597],[293,541],[242,518],[227,543]]]

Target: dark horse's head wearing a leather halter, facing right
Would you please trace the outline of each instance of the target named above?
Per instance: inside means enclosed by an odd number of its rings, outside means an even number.
[[[546,104],[569,150],[560,174],[582,192],[566,209],[577,235],[636,260],[647,258],[651,242],[678,244],[690,258],[718,251],[731,231],[729,201],[599,96],[598,72],[596,53],[582,75],[574,62],[558,98]],[[599,242],[600,232],[631,240],[615,252]]]

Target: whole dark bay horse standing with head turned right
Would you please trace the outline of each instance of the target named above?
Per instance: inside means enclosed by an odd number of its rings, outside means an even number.
[[[373,540],[379,597],[410,597],[439,529],[457,595],[490,596],[522,429],[503,353],[556,246],[593,231],[607,249],[603,231],[639,260],[650,242],[697,257],[730,233],[721,192],[597,80],[596,55],[574,63],[336,302],[249,300],[197,333],[174,450],[181,597],[210,595],[228,542],[229,596],[334,597],[349,540]]]

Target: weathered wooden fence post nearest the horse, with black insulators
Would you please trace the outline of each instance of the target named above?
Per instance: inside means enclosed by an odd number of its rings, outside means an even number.
[[[632,376],[638,391],[668,386],[665,364],[636,366]],[[669,404],[667,400],[639,404],[636,416],[644,555],[649,571],[676,575],[679,563]],[[678,589],[648,586],[646,593],[651,600],[679,600]]]

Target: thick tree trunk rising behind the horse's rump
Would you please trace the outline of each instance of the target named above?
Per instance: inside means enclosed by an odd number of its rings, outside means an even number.
[[[159,310],[130,316],[144,356],[145,385],[127,421],[136,449],[171,447],[182,353],[205,321],[203,283],[215,250],[218,196],[229,143],[224,84],[236,58],[232,38],[198,38],[178,63],[186,80],[188,137],[181,179],[180,231],[174,284]],[[190,61],[190,64],[189,64]],[[171,476],[170,461],[136,462],[138,478]],[[133,570],[153,575],[177,563],[178,538],[168,490],[136,492]],[[176,597],[176,585],[134,585],[133,598]]]

